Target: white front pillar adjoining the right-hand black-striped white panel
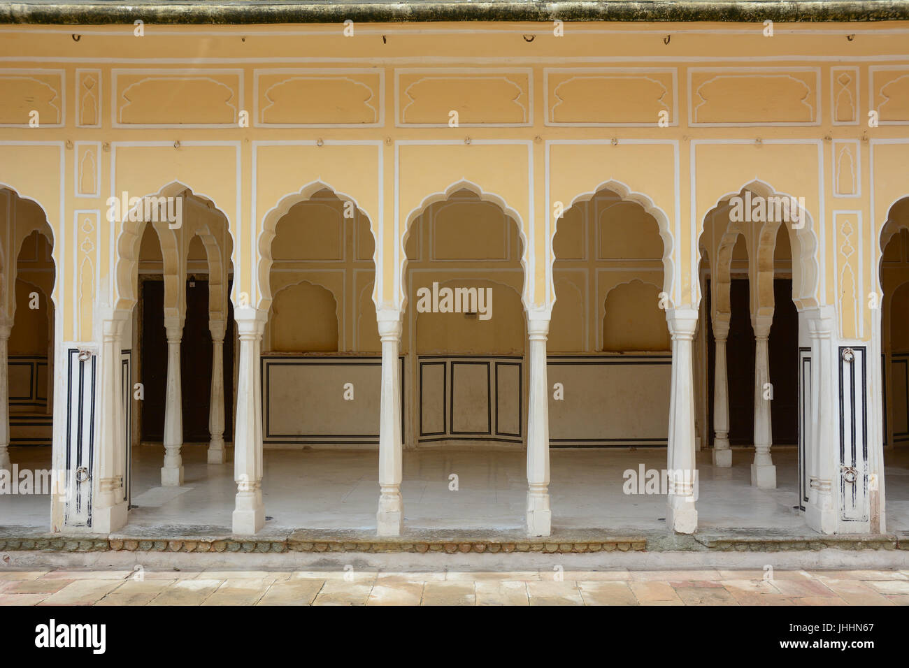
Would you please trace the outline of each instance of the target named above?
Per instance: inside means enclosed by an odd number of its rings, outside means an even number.
[[[838,521],[834,505],[834,471],[837,464],[839,387],[836,372],[838,351],[833,333],[832,306],[812,309],[808,316],[811,338],[811,443],[808,446],[808,501],[804,519],[812,529],[835,533]]]

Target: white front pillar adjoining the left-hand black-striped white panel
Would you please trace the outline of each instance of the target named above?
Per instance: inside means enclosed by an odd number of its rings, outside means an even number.
[[[104,335],[100,359],[101,387],[100,433],[95,469],[95,502],[92,528],[98,533],[111,533],[126,524],[124,500],[124,410],[123,378],[120,365],[120,336],[127,314],[115,312],[102,321]]]

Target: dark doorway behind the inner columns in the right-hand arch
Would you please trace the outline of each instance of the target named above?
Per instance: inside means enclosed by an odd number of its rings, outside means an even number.
[[[768,354],[773,441],[776,445],[798,443],[798,311],[792,300],[792,279],[774,279],[774,324],[770,328]],[[711,313],[711,285],[706,293]],[[726,373],[729,383],[729,443],[754,444],[754,330],[751,326],[747,279],[733,279],[729,301],[732,317],[726,342]],[[710,436],[714,433],[714,332],[707,318],[707,407]]]

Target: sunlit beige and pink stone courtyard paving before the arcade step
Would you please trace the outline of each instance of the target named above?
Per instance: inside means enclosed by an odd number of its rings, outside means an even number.
[[[909,570],[4,570],[0,605],[909,605]]]

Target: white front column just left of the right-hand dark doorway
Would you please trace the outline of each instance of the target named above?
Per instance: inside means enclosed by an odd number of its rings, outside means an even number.
[[[669,394],[667,470],[669,497],[666,526],[675,533],[694,533],[697,528],[697,463],[694,455],[694,369],[692,340],[697,311],[675,308],[666,311],[673,337],[672,388]]]

